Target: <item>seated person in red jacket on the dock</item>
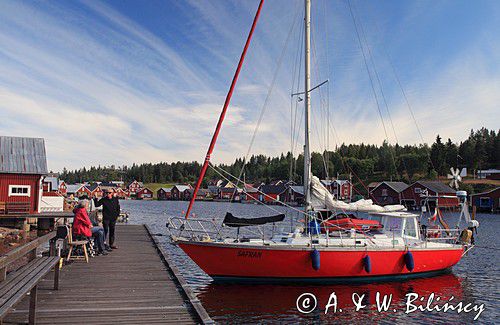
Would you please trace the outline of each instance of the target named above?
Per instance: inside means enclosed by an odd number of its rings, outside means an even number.
[[[88,201],[81,200],[73,210],[75,218],[73,219],[73,235],[94,237],[97,254],[107,255],[104,250],[104,229],[102,227],[94,227],[87,213]]]

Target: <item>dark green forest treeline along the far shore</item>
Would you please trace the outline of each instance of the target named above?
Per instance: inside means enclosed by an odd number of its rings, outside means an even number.
[[[244,159],[238,158],[230,165],[219,165],[233,175],[239,175]],[[352,178],[356,185],[365,186],[372,181],[437,179],[446,176],[450,167],[467,167],[469,175],[477,169],[500,167],[500,130],[471,130],[469,137],[460,143],[444,140],[439,135],[434,143],[421,145],[380,146],[368,144],[342,144],[333,151],[312,153],[313,174],[320,177]],[[133,164],[132,166],[97,166],[68,171],[60,175],[67,183],[84,181],[111,181],[134,179],[144,183],[195,182],[201,165],[196,162],[160,162]],[[301,183],[303,156],[292,157],[283,153],[278,157],[253,155],[246,163],[244,175],[247,182],[269,182],[292,179]],[[208,169],[205,182],[220,178]]]

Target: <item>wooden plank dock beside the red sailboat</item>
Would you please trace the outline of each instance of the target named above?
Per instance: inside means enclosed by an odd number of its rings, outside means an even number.
[[[38,287],[39,324],[209,324],[205,309],[168,254],[142,225],[117,225],[117,250],[89,263],[74,261]],[[25,298],[4,319],[26,323]]]

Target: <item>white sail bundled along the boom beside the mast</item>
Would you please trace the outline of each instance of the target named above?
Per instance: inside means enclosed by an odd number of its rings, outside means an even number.
[[[359,200],[352,203],[335,200],[316,176],[313,176],[311,180],[311,205],[316,209],[326,208],[331,211],[392,212],[406,210],[400,204],[380,206],[373,204],[372,200]]]

